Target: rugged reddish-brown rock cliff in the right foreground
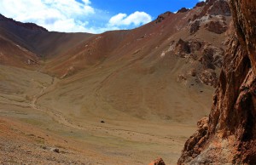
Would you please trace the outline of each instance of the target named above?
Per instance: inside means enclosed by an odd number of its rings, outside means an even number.
[[[230,0],[229,43],[205,127],[186,142],[178,164],[256,164],[256,2]]]

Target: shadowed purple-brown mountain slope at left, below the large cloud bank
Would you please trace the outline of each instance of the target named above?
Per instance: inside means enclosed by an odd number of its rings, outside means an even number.
[[[21,23],[0,14],[0,63],[38,68],[47,55],[61,54],[91,36],[86,33],[50,32],[44,27]]]

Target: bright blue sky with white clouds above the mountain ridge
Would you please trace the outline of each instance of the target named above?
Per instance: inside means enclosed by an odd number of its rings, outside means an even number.
[[[193,8],[201,0],[1,0],[0,13],[49,31],[90,32],[132,29],[166,11]]]

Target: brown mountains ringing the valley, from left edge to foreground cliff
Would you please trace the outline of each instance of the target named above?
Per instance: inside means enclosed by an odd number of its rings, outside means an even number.
[[[176,122],[196,121],[210,109],[230,20],[224,0],[198,3],[177,14],[166,12],[137,29],[98,35],[50,32],[2,15],[0,63],[43,71],[64,79],[63,86],[70,88],[73,80],[83,80],[67,98],[89,87],[86,77],[92,75],[95,83],[87,94],[99,93],[100,102],[114,110],[143,118],[156,113]],[[90,109],[90,103],[79,104]]]

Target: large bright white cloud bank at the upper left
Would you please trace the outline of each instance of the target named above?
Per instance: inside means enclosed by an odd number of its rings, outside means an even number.
[[[0,11],[22,22],[34,22],[49,31],[86,31],[79,17],[94,14],[90,0],[1,0]]]

